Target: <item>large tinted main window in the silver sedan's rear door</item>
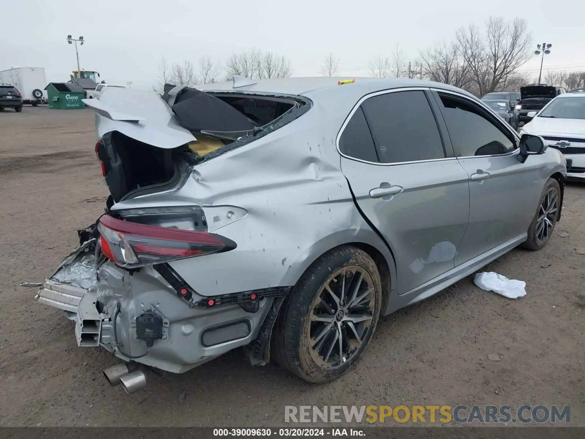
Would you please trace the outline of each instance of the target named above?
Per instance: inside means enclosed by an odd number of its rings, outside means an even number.
[[[424,91],[374,96],[362,104],[380,162],[400,163],[445,157],[439,128]]]

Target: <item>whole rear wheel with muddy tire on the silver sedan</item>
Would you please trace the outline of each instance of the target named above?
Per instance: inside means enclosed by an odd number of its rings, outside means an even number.
[[[340,246],[301,276],[278,315],[272,355],[278,365],[313,383],[347,372],[376,330],[380,273],[366,252]]]

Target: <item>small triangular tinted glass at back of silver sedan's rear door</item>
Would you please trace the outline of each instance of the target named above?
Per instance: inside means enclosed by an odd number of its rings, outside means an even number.
[[[347,122],[339,138],[339,150],[346,156],[366,162],[378,162],[374,140],[367,126],[362,107],[358,108]]]

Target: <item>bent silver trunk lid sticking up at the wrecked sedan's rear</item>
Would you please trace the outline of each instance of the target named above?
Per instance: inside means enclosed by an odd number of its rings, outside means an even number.
[[[157,148],[172,149],[194,142],[195,136],[176,121],[173,110],[154,91],[114,88],[98,99],[82,102],[94,110],[98,138],[110,131]]]

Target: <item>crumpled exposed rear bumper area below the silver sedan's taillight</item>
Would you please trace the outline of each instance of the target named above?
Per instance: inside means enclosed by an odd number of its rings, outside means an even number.
[[[195,291],[191,303],[185,300],[153,267],[143,267],[130,274],[106,262],[93,269],[96,283],[88,283],[90,289],[72,285],[71,279],[60,282],[56,277],[63,278],[63,269],[75,271],[77,275],[85,273],[92,254],[78,252],[69,258],[70,265],[61,265],[44,283],[36,299],[76,314],[78,347],[101,346],[124,361],[132,359],[174,373],[183,373],[245,345],[249,345],[246,350],[252,362],[263,363],[262,352],[270,340],[278,311],[275,307],[280,306],[290,289],[283,287],[278,296],[273,291],[266,291],[266,296],[259,293],[254,307],[239,303],[240,294],[233,294],[233,301],[227,300],[231,295],[223,294],[215,296],[218,304],[209,308],[199,305],[205,298]],[[70,267],[75,264],[77,268]],[[160,338],[151,347],[147,347],[137,330],[137,317],[145,314],[154,314],[162,322]]]

